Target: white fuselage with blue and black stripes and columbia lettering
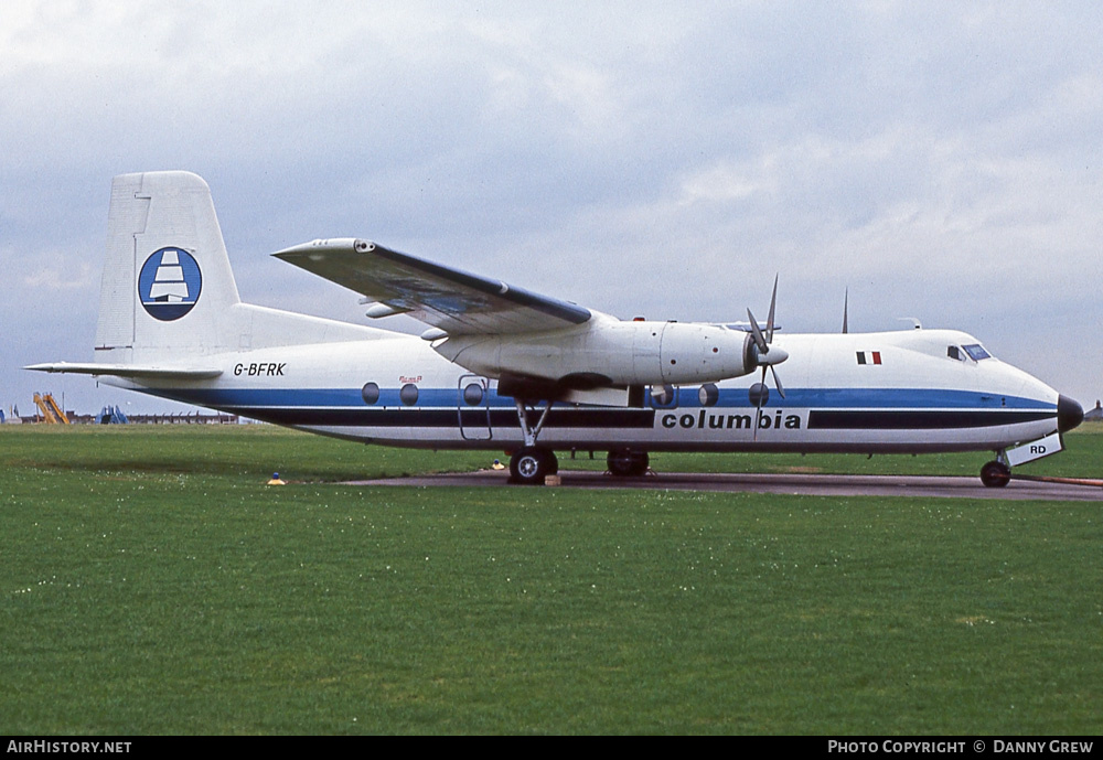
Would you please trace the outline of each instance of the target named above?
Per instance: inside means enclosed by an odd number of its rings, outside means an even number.
[[[785,397],[768,378],[761,413],[748,393],[760,381],[758,372],[715,384],[652,386],[636,406],[556,404],[540,445],[919,453],[999,450],[1058,429],[1058,393],[996,358],[968,356],[962,346],[977,341],[965,333],[779,333],[773,344],[789,354],[778,367]],[[514,399],[497,395],[497,381],[458,366],[438,350],[395,333],[207,355],[204,364],[222,370],[212,379],[104,379],[365,442],[521,446]]]

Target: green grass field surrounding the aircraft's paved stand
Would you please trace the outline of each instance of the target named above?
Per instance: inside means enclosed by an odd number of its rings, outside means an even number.
[[[1026,470],[1100,477],[1103,435],[1067,442]],[[490,458],[0,428],[0,732],[1103,728],[1099,504],[333,483]]]

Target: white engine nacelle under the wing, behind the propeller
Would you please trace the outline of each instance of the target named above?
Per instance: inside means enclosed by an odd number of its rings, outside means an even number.
[[[486,377],[542,378],[564,387],[715,383],[754,370],[753,338],[694,322],[622,322],[597,315],[565,330],[454,335],[433,347]]]

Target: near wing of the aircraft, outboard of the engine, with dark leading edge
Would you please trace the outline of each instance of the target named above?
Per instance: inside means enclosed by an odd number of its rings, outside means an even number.
[[[497,335],[581,324],[590,311],[351,237],[314,240],[272,254],[450,335]]]

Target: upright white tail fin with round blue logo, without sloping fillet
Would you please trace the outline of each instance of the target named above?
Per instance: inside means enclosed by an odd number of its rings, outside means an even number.
[[[189,172],[111,183],[96,360],[118,364],[225,351],[240,302],[206,182]]]

